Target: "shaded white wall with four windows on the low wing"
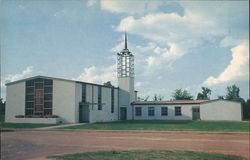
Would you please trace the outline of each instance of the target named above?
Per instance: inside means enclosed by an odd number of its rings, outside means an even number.
[[[192,120],[192,108],[199,105],[134,105],[135,120]],[[142,108],[142,115],[135,115],[135,107]],[[155,115],[148,116],[148,107],[155,107]],[[168,115],[161,115],[161,107],[168,107]],[[175,116],[175,107],[181,107],[181,116]]]

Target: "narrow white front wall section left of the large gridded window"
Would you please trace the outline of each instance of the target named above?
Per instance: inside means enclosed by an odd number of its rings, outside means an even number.
[[[8,85],[6,90],[5,122],[16,122],[16,115],[25,115],[25,82]]]

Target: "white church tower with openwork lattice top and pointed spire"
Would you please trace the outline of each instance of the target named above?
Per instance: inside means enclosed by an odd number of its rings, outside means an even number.
[[[127,48],[125,32],[125,47],[117,53],[117,77],[119,87],[119,119],[132,119],[131,102],[135,101],[134,91],[134,55]]]

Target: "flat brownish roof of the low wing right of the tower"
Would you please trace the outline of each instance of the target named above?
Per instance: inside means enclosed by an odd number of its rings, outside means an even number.
[[[200,104],[210,100],[169,100],[169,101],[137,101],[133,105],[164,105],[164,104]]]

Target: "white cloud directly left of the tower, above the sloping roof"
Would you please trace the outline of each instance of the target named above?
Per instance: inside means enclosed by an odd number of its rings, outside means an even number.
[[[81,73],[77,78],[73,78],[73,80],[98,84],[111,81],[113,85],[117,85],[116,79],[116,64],[103,68],[97,68],[96,66],[87,67],[84,68],[83,73]]]

